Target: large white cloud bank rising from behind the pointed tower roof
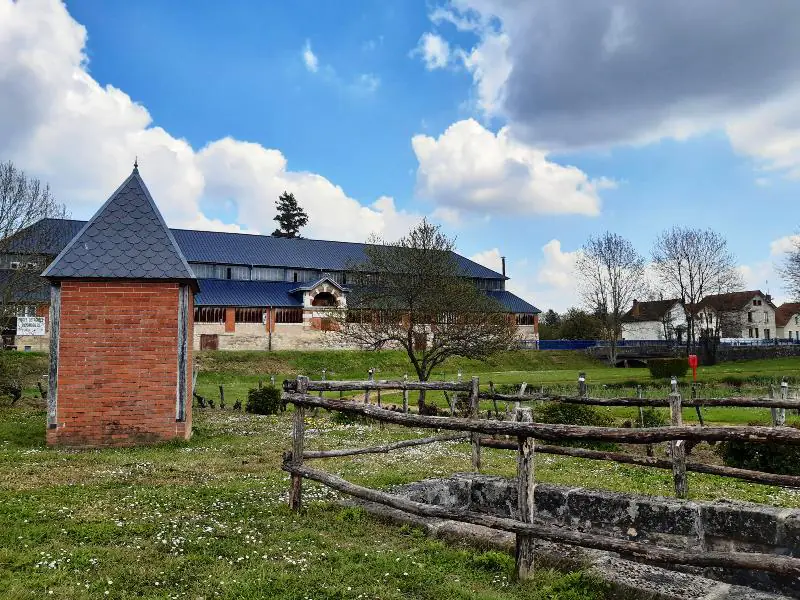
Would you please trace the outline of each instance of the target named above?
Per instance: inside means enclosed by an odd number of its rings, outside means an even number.
[[[48,181],[74,217],[89,217],[138,156],[172,226],[269,233],[284,190],[309,213],[309,237],[397,236],[420,218],[387,198],[365,206],[257,143],[224,138],[195,150],[154,125],[125,92],[99,85],[87,71],[85,42],[86,30],[60,2],[0,0],[0,156]],[[203,212],[215,203],[234,206],[235,223]]]

